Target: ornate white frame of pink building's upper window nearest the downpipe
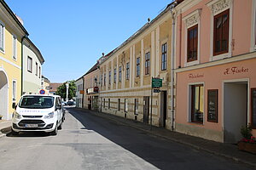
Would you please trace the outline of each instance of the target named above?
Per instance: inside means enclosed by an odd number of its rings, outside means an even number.
[[[201,8],[196,9],[191,14],[188,14],[183,18],[183,21],[185,22],[185,48],[184,48],[184,65],[190,66],[190,65],[198,65],[200,61],[200,37],[201,37]],[[197,59],[194,61],[188,62],[188,30],[192,26],[197,25]]]

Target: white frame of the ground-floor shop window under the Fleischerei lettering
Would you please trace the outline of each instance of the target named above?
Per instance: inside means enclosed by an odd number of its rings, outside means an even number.
[[[203,113],[204,113],[204,115],[203,115],[203,122],[202,122],[202,123],[197,123],[197,122],[192,122],[192,120],[191,120],[191,115],[192,115],[192,112],[191,112],[191,109],[192,109],[192,105],[191,105],[191,103],[192,103],[192,91],[191,91],[191,86],[200,85],[200,84],[202,84],[203,87],[204,87],[204,94],[203,94],[203,101],[204,101]],[[205,101],[205,91],[206,91],[205,82],[191,82],[191,83],[188,84],[187,122],[191,122],[191,123],[195,123],[195,124],[201,124],[201,125],[205,124],[205,119],[206,119],[206,112],[205,112],[205,110],[206,110],[206,107],[205,107],[205,104],[206,104],[206,103],[205,103],[205,102],[206,102],[206,101]]]

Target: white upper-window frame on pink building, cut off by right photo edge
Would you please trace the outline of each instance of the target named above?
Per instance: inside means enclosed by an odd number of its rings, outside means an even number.
[[[252,26],[251,26],[251,48],[250,51],[256,51],[256,0],[252,0]]]

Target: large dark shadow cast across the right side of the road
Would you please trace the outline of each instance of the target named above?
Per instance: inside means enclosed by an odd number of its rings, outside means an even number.
[[[201,168],[209,164],[217,164],[216,157],[206,155],[198,150],[193,150],[183,144],[176,144],[172,141],[149,135],[143,131],[130,126],[125,126],[119,122],[97,116],[97,113],[91,111],[82,111],[78,109],[67,109],[79,122],[84,125],[84,129],[93,130],[101,134],[106,139],[118,144],[125,150],[139,156],[144,161],[160,169],[197,169],[197,163],[201,163]],[[203,157],[201,160],[196,157]],[[206,160],[204,160],[206,158]],[[209,161],[208,161],[209,160]],[[220,160],[218,160],[220,161]],[[200,169],[201,169],[200,168]],[[215,169],[214,166],[212,168]]]

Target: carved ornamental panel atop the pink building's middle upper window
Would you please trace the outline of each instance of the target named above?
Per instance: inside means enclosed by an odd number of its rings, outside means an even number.
[[[212,1],[207,4],[207,6],[211,9],[212,14],[218,14],[224,9],[230,8],[230,6],[233,4],[233,0],[219,0],[218,2]]]

